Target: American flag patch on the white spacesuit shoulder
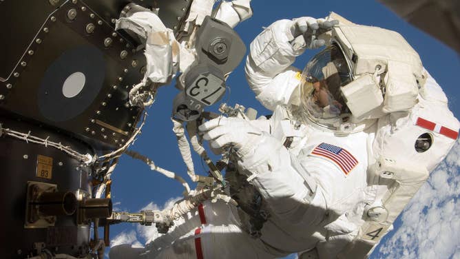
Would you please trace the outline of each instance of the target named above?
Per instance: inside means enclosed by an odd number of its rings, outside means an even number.
[[[311,154],[332,160],[346,175],[358,164],[358,160],[346,149],[327,143],[317,145]]]

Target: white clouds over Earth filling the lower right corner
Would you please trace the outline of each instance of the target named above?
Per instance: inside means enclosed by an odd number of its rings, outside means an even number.
[[[460,259],[460,141],[401,215],[402,225],[378,258]]]

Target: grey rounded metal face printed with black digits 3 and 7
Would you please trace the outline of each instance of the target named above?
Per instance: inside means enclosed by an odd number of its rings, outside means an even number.
[[[224,81],[213,74],[200,74],[187,87],[187,95],[204,105],[216,103],[225,92]]]

